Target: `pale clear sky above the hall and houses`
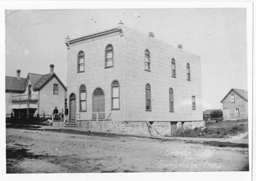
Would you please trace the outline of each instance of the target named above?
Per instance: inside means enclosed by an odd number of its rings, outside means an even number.
[[[5,75],[48,74],[67,86],[67,35],[77,38],[118,22],[200,56],[203,109],[221,109],[231,88],[247,90],[246,8],[6,10]]]

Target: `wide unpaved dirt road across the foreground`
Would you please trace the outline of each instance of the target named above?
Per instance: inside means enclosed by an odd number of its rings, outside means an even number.
[[[247,171],[248,148],[6,129],[6,173]]]

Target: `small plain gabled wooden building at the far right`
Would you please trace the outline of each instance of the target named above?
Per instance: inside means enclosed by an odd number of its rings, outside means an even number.
[[[224,120],[248,119],[248,92],[232,88],[221,100]]]

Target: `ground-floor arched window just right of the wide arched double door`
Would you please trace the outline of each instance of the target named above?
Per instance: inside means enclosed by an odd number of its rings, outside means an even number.
[[[120,86],[118,81],[113,81],[111,84],[111,109],[120,109]]]

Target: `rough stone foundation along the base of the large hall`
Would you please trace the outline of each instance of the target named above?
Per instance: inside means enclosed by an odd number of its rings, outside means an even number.
[[[177,129],[194,129],[204,127],[204,121],[198,122],[154,122],[148,125],[147,122],[113,122],[113,121],[78,121],[77,128],[92,132],[111,132],[116,134],[134,134],[141,136],[173,136]]]

